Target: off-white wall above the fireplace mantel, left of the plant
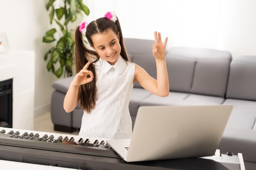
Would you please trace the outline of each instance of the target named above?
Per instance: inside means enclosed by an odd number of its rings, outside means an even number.
[[[35,113],[49,110],[52,82],[57,79],[43,60],[51,47],[42,42],[51,28],[45,4],[45,0],[0,0],[0,32],[7,34],[10,49],[35,51]]]

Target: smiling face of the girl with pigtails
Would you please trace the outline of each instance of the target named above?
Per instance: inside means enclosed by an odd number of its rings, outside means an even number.
[[[108,31],[103,33],[92,35],[91,38],[94,44],[94,46],[91,47],[103,60],[106,60],[109,64],[114,65],[121,53],[119,33],[118,35],[115,35],[112,29],[108,29]]]

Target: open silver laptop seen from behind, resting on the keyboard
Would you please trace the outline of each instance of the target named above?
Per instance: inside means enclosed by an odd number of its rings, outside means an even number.
[[[142,106],[132,138],[107,143],[127,162],[213,156],[232,108]]]

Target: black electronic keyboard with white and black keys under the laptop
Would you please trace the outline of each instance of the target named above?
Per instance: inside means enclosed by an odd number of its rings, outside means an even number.
[[[87,170],[229,170],[226,165],[240,170],[239,162],[200,158],[126,162],[106,140],[0,127],[0,159]]]

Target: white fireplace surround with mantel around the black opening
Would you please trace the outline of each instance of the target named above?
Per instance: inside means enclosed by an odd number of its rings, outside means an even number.
[[[13,128],[33,130],[35,52],[0,53],[0,81],[13,78]]]

